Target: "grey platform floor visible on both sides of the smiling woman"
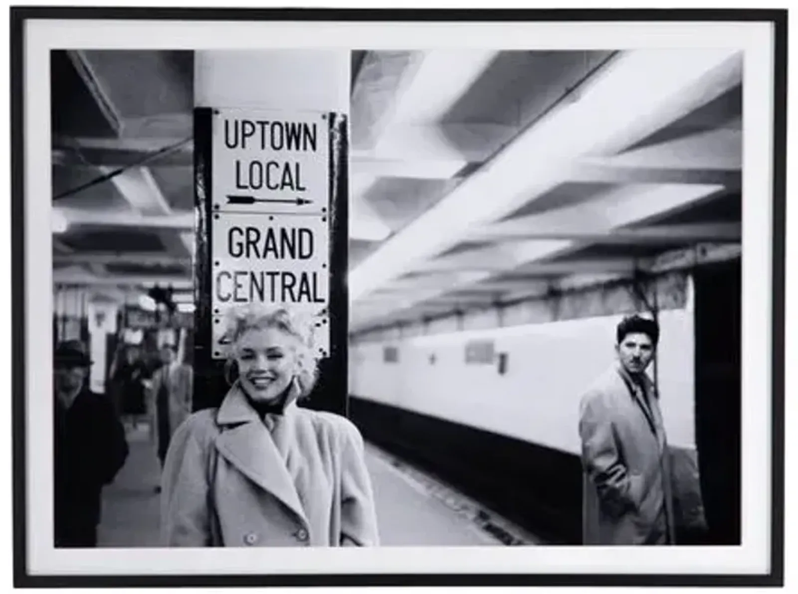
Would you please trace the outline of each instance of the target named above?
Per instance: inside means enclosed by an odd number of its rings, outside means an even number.
[[[128,428],[130,454],[103,491],[98,546],[159,546],[160,467],[149,428]],[[391,454],[366,444],[383,546],[503,546],[535,538]]]

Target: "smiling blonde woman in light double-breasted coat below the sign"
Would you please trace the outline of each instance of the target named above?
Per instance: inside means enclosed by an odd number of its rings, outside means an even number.
[[[373,491],[358,429],[297,400],[316,378],[312,328],[281,308],[231,312],[232,383],[172,436],[161,509],[167,546],[371,546]]]

